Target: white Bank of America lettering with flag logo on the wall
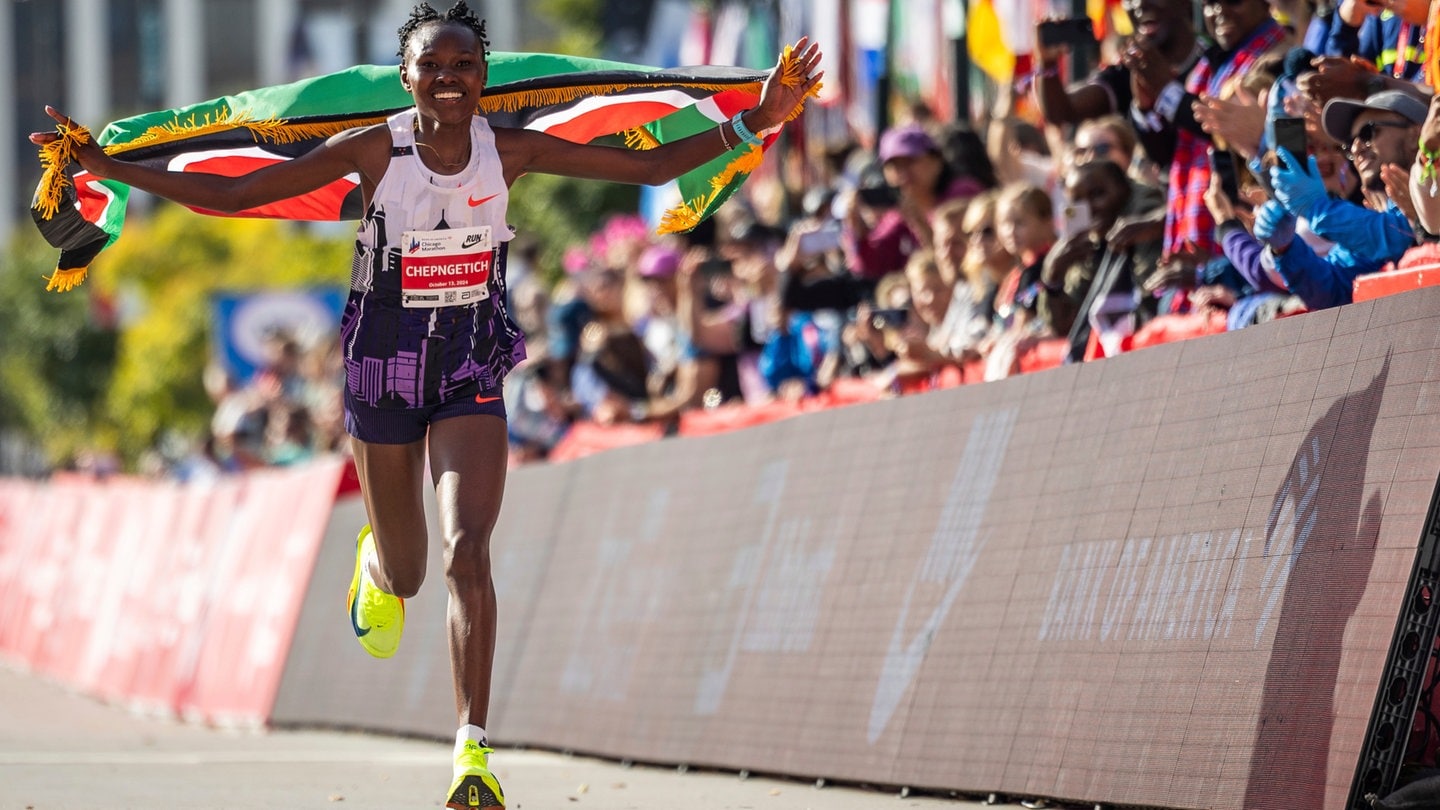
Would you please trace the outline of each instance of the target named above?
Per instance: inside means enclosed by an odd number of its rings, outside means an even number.
[[[1256,644],[1315,529],[1319,461],[1316,438],[1302,448],[1270,509]],[[1068,543],[1060,551],[1037,636],[1041,641],[1102,643],[1228,638],[1240,594],[1254,589],[1246,584],[1251,546],[1251,532],[1241,529]]]

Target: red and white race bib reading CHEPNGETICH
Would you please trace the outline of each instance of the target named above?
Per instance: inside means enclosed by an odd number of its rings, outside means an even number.
[[[490,298],[495,251],[490,226],[406,231],[402,235],[400,303],[454,307]]]

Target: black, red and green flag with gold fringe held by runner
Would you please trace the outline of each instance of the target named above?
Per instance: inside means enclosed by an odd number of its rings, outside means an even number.
[[[786,82],[802,81],[789,48],[782,71]],[[655,69],[579,56],[495,52],[490,55],[490,85],[478,111],[495,127],[526,127],[575,143],[618,134],[631,148],[654,148],[717,127],[755,107],[766,75],[714,65]],[[179,110],[145,112],[109,124],[96,140],[118,160],[171,172],[239,176],[294,160],[336,133],[382,123],[412,104],[400,86],[397,66],[361,65]],[[89,137],[88,133],[62,127],[60,134],[62,138],[40,150],[45,174],[30,209],[42,235],[60,249],[46,290],[65,291],[81,284],[91,261],[120,238],[130,187],[89,174],[72,161],[75,143]],[[760,133],[760,146],[721,154],[683,174],[678,179],[683,202],[665,213],[660,231],[690,231],[710,216],[759,167],[778,135],[779,127]],[[360,203],[357,179],[344,177],[304,196],[233,216],[359,219]]]

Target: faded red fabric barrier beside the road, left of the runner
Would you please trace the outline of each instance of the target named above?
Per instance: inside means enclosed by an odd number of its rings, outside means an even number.
[[[264,724],[340,471],[0,480],[0,656],[102,699]]]

